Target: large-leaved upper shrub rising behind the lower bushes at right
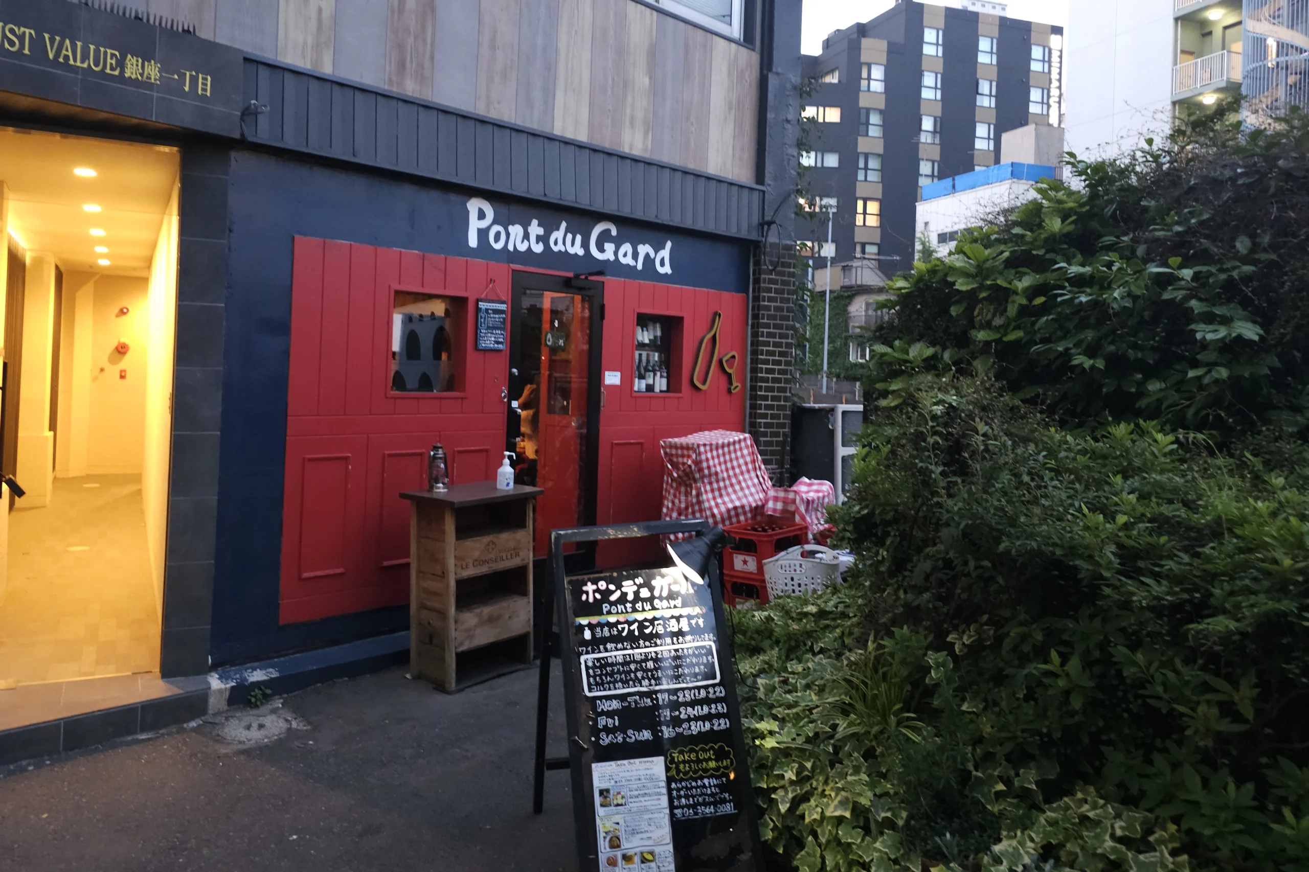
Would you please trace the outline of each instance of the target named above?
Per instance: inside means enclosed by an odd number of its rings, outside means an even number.
[[[1217,115],[1113,161],[1075,161],[954,251],[897,276],[868,378],[915,343],[991,372],[1063,423],[1249,432],[1309,419],[1309,119],[1242,136]]]

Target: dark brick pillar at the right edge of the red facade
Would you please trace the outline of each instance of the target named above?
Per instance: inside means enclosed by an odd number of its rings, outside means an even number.
[[[791,484],[791,394],[796,378],[795,247],[757,249],[750,299],[749,428],[774,484]]]

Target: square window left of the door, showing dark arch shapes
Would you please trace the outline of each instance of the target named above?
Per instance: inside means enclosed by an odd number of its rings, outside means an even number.
[[[459,390],[465,305],[462,297],[395,292],[391,306],[391,393]]]

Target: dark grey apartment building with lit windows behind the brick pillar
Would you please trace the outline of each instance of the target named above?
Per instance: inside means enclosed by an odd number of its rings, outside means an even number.
[[[1062,27],[911,0],[833,33],[804,59],[816,199],[797,238],[826,255],[835,206],[834,259],[907,267],[924,185],[1005,161],[1007,131],[1060,123],[1062,48]]]

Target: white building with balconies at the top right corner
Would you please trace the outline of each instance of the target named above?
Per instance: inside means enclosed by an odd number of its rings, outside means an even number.
[[[1251,124],[1309,105],[1306,0],[1072,0],[1068,24],[1079,154],[1164,136],[1223,97],[1242,94]]]

